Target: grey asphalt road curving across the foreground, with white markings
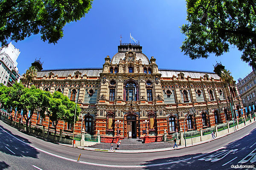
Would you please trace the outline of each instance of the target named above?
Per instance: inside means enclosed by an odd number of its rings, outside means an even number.
[[[256,167],[255,127],[256,123],[253,123],[221,139],[178,150],[102,153],[46,142],[0,121],[0,170],[222,170],[232,169],[231,165]]]

